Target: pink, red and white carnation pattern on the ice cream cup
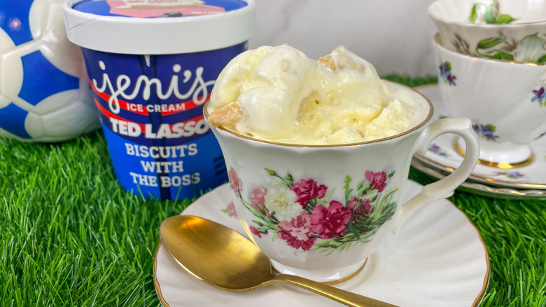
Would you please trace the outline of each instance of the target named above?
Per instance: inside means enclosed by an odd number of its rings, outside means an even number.
[[[356,183],[346,176],[342,199],[333,199],[333,189],[316,179],[265,171],[271,182],[243,191],[237,172],[230,168],[230,186],[255,217],[249,223],[255,239],[272,234],[273,240],[286,241],[294,252],[331,254],[370,242],[396,210],[393,199],[398,189],[388,189],[394,171],[367,170]]]

